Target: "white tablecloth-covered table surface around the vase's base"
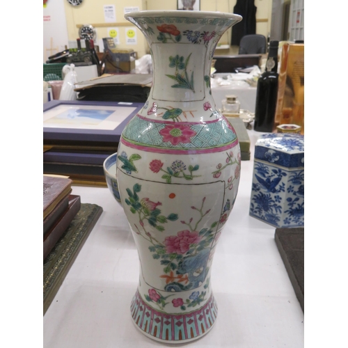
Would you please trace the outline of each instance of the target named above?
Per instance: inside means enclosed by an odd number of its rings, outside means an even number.
[[[303,312],[274,241],[275,228],[248,215],[253,145],[261,134],[248,133],[251,160],[242,161],[235,207],[212,264],[219,314],[212,330],[190,347],[303,347]],[[132,322],[139,259],[122,208],[106,188],[74,186],[72,193],[103,212],[43,317],[44,347],[166,347]]]

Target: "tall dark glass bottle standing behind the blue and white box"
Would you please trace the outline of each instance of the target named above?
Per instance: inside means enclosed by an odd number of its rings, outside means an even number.
[[[256,91],[254,129],[271,133],[278,95],[278,41],[269,42],[269,54],[264,73],[258,79]]]

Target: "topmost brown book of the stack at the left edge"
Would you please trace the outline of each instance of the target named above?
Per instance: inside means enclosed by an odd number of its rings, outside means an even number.
[[[43,219],[45,219],[56,205],[70,194],[72,180],[68,177],[54,177],[43,175]]]

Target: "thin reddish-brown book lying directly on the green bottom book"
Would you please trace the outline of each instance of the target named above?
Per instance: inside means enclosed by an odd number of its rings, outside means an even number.
[[[81,208],[80,196],[70,195],[68,198],[68,209],[63,212],[56,223],[54,223],[54,226],[43,236],[44,260]]]

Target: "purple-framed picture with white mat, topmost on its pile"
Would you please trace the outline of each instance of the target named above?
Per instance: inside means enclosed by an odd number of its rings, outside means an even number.
[[[44,145],[115,145],[143,103],[52,100],[43,104]]]

